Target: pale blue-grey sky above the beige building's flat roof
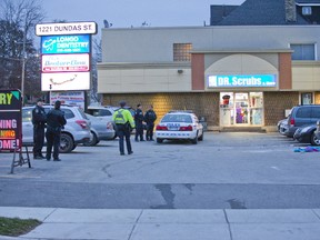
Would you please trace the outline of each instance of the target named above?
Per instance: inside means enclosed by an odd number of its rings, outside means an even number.
[[[210,23],[211,4],[241,4],[244,0],[42,0],[44,22],[103,20],[111,28],[189,27]],[[67,3],[68,2],[68,3]]]

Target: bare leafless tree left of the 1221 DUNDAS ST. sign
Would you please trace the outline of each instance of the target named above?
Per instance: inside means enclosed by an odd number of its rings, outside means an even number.
[[[41,3],[40,0],[0,2],[0,61],[6,66],[0,68],[2,88],[26,86],[28,96],[40,93],[40,61],[33,43],[34,27],[44,19]]]

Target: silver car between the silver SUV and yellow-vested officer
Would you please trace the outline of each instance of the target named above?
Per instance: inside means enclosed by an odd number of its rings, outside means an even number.
[[[91,134],[90,140],[83,143],[84,146],[96,146],[101,140],[114,139],[116,131],[112,121],[109,121],[108,119],[101,117],[93,117],[88,113],[86,113],[86,116],[91,122]]]

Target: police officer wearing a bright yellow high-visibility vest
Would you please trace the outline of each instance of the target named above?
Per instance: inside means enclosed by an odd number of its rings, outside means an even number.
[[[119,137],[119,150],[121,156],[124,156],[124,138],[128,154],[133,153],[130,134],[131,129],[136,127],[131,112],[128,109],[124,109],[124,107],[126,101],[120,101],[120,109],[118,109],[112,116],[112,120],[116,123],[117,136]]]

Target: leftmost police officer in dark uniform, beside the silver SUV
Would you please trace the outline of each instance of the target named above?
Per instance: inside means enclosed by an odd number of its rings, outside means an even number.
[[[47,122],[47,114],[44,111],[43,100],[39,98],[37,106],[32,110],[32,124],[33,124],[33,159],[44,159],[42,156],[42,148],[44,143],[44,127]]]

